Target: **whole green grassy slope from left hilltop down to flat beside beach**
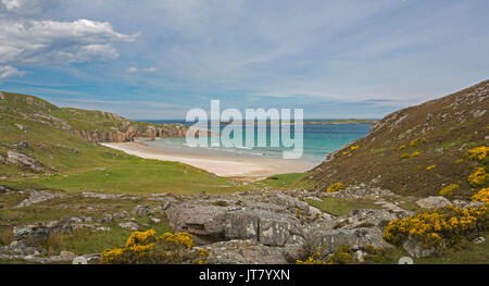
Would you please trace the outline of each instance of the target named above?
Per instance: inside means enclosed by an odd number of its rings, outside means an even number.
[[[23,130],[15,124],[21,124]],[[34,174],[24,167],[0,163],[0,184],[18,188],[126,194],[241,189],[231,181],[185,164],[143,160],[87,142],[63,127],[66,124],[73,129],[109,130],[122,123],[115,114],[60,109],[36,97],[3,92],[0,98],[0,156],[5,157],[16,144],[26,141],[28,147],[16,151],[53,167],[57,174]]]

